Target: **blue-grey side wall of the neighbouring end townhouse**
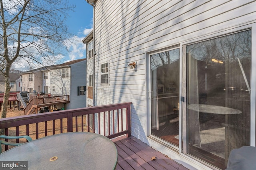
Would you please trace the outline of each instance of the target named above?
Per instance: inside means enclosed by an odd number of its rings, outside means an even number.
[[[86,60],[71,65],[70,109],[86,107],[86,91],[78,96],[78,86],[86,86]]]

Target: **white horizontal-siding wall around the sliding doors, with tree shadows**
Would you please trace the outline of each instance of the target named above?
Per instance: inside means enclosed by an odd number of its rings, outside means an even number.
[[[97,0],[95,7],[96,106],[132,102],[132,135],[146,138],[146,52],[210,37],[254,23],[253,0]],[[246,26],[245,26],[246,27]],[[254,32],[253,32],[254,33]],[[137,62],[135,69],[128,63]],[[100,64],[109,62],[109,85]]]

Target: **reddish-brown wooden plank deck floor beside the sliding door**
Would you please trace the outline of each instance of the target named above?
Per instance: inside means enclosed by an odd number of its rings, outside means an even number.
[[[188,170],[135,137],[118,137],[116,170]],[[152,157],[156,159],[151,160]]]

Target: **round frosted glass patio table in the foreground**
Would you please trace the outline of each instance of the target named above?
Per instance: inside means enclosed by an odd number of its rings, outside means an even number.
[[[31,170],[112,170],[117,150],[102,135],[69,132],[36,139],[0,154],[0,161],[28,161]]]

